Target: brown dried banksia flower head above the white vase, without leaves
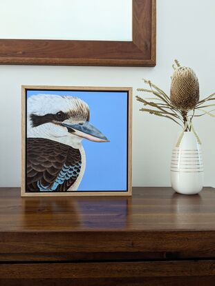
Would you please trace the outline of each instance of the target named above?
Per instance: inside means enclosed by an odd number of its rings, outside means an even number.
[[[177,65],[178,62],[176,62]],[[187,112],[193,110],[199,101],[198,78],[191,68],[178,67],[171,78],[171,103],[178,109]]]

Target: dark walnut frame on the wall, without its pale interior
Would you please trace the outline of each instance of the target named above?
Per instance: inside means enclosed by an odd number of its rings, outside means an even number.
[[[132,41],[0,39],[0,64],[156,65],[156,0],[133,0]]]

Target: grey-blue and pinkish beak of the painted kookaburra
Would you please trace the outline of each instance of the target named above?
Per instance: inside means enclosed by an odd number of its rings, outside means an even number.
[[[94,127],[91,123],[88,123],[88,121],[83,124],[62,123],[62,125],[67,128],[68,132],[90,141],[109,142],[109,139],[107,139],[106,136],[104,136],[104,134],[102,134],[102,132],[100,132],[100,130]]]

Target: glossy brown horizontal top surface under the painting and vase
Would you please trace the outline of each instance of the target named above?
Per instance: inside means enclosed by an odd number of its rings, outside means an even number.
[[[124,197],[21,198],[0,188],[0,232],[215,230],[215,190],[176,194],[170,187],[133,187]]]

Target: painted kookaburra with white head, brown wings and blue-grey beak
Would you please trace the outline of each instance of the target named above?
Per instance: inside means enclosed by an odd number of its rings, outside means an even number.
[[[27,192],[77,190],[86,165],[82,139],[108,141],[89,119],[88,105],[75,96],[27,99]]]

